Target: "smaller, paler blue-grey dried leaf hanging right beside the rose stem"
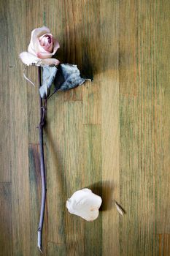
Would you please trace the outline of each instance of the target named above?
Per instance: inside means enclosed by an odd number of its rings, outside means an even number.
[[[58,69],[56,67],[47,66],[42,68],[42,86],[39,89],[39,93],[43,99],[47,98],[50,94],[50,88],[57,71]]]

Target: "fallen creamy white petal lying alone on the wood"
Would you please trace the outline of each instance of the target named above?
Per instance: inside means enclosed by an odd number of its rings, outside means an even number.
[[[66,208],[71,214],[90,222],[97,219],[101,202],[101,197],[95,195],[90,189],[81,189],[74,192],[72,197],[66,201]]]

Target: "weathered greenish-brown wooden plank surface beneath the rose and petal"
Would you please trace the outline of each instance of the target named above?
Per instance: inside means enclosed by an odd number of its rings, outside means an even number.
[[[39,255],[39,95],[18,54],[45,24],[58,59],[93,83],[47,105],[44,255],[169,256],[170,1],[1,0],[0,10],[0,255]],[[27,74],[37,82],[36,67]],[[95,222],[66,211],[82,187],[103,198]]]

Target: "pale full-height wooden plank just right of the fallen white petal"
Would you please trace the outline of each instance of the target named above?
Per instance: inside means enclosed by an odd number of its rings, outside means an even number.
[[[122,219],[115,211],[115,200],[120,201],[119,16],[117,1],[101,4],[101,23],[108,24],[104,31],[101,27],[101,44],[104,45],[101,50],[104,72],[101,72],[100,75],[101,171],[102,198],[104,200],[102,255],[112,255],[113,252],[115,255],[119,255],[120,253],[119,219],[120,222]],[[114,227],[114,232],[112,227]]]

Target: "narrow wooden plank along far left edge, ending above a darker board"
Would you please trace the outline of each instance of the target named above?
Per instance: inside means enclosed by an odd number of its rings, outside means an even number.
[[[5,10],[5,11],[4,11]],[[4,64],[1,64],[0,67],[0,76],[1,76],[1,86],[0,86],[0,101],[1,101],[1,110],[0,110],[0,119],[3,121],[0,129],[0,162],[1,162],[1,171],[0,171],[0,182],[9,182],[11,181],[11,168],[10,168],[10,136],[9,136],[9,69],[12,68],[12,64],[9,63],[9,60],[6,58],[8,54],[8,21],[7,21],[7,5],[4,1],[0,3],[0,12],[1,12],[1,41],[0,41],[0,53],[1,59],[3,59]],[[4,75],[5,74],[5,75]],[[4,116],[5,110],[5,116]]]

